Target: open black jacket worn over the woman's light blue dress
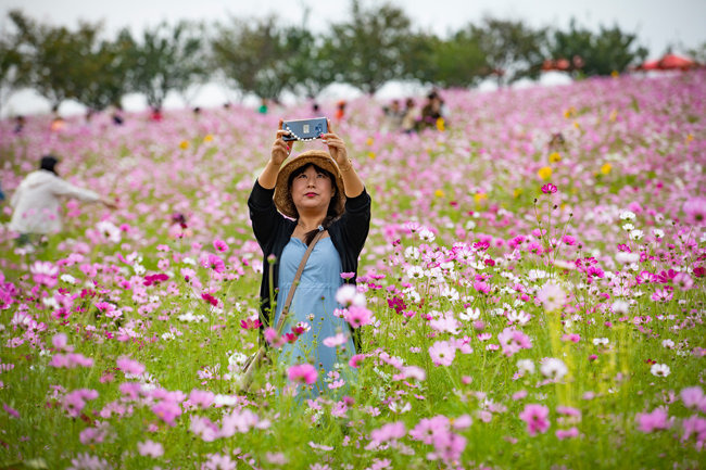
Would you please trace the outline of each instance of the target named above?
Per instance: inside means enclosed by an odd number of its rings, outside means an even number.
[[[269,255],[275,255],[275,264],[272,265],[272,269],[273,292],[276,301],[277,285],[279,282],[279,258],[297,227],[295,220],[289,219],[277,212],[277,207],[273,201],[274,194],[274,188],[265,189],[259,181],[255,181],[255,186],[248,199],[252,229],[264,255],[262,284],[260,285],[260,312],[263,320],[261,332],[270,325],[272,318],[274,317],[272,314],[274,308],[269,305],[268,270],[270,269],[270,265],[267,258]],[[355,272],[357,276],[358,255],[363,250],[363,245],[368,236],[368,229],[370,228],[370,196],[365,189],[355,198],[346,198],[345,212],[328,228],[331,242],[333,242],[333,246],[341,257],[342,272]],[[355,284],[356,276],[352,279],[344,279],[344,282]],[[353,343],[355,344],[356,351],[360,352],[360,329],[353,330]]]

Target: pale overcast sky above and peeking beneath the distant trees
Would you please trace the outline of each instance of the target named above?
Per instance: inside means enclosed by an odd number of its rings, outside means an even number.
[[[362,0],[364,7],[381,4]],[[706,0],[391,0],[402,8],[413,24],[444,36],[484,15],[522,20],[534,27],[566,28],[575,17],[579,25],[597,30],[600,25],[618,25],[635,33],[648,59],[660,56],[668,47],[683,52],[706,42]],[[102,21],[110,36],[124,26],[138,33],[162,20],[227,21],[276,14],[283,22],[301,24],[308,8],[312,30],[324,31],[327,24],[345,20],[349,0],[0,0],[0,28],[9,26],[7,13],[20,9],[28,16],[53,25],[75,28],[79,20]],[[223,93],[206,90],[200,104],[223,101]],[[143,106],[135,102],[135,109]],[[124,105],[126,103],[124,102]],[[165,103],[169,106],[169,100]],[[179,103],[174,102],[175,106]],[[0,115],[47,112],[48,103],[30,91],[16,93]],[[62,112],[63,112],[62,106]],[[133,107],[130,102],[126,107]]]

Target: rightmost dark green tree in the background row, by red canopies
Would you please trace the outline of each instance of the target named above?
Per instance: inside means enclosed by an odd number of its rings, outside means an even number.
[[[551,59],[568,61],[568,72],[573,75],[610,75],[626,71],[647,55],[647,49],[636,45],[636,38],[618,26],[601,26],[596,34],[571,20],[568,30],[553,33],[549,51]]]

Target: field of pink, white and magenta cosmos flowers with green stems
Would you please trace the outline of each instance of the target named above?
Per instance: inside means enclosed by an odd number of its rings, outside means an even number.
[[[706,73],[442,96],[440,130],[367,98],[335,125],[373,223],[340,292],[363,351],[315,398],[305,365],[240,386],[247,199],[308,105],[1,123],[8,199],[53,153],[118,208],[68,201],[33,250],[3,202],[0,468],[706,467]]]

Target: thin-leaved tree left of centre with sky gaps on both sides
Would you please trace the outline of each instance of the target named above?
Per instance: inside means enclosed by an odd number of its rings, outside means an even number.
[[[162,107],[169,91],[188,103],[189,87],[207,76],[202,38],[202,27],[185,21],[146,29],[129,59],[135,63],[129,74],[133,89],[144,93],[152,107]]]

